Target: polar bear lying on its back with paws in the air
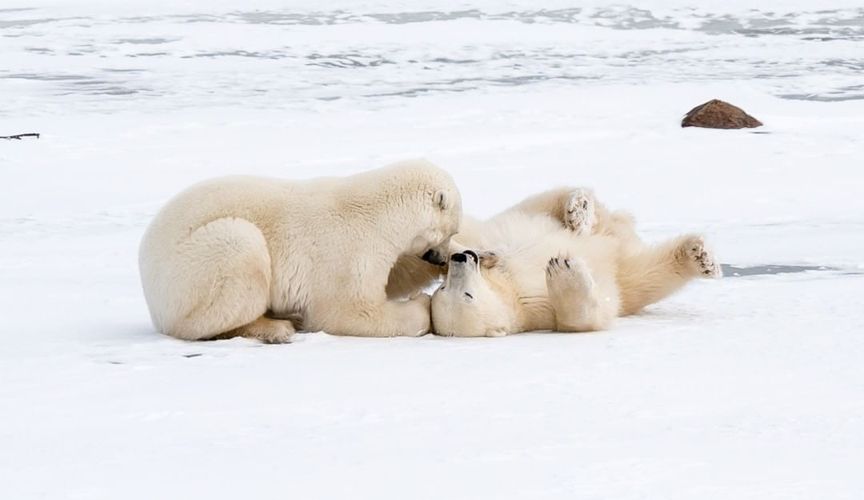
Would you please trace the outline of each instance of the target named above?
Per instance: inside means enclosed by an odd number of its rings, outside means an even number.
[[[432,297],[439,335],[602,330],[694,278],[721,276],[701,236],[646,245],[632,217],[610,212],[587,189],[542,193],[462,226],[453,244],[465,250],[451,255]]]

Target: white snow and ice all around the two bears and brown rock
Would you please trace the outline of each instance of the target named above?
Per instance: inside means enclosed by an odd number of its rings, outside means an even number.
[[[0,6],[0,498],[858,499],[860,1]],[[119,4],[119,5],[118,5]],[[681,129],[719,97],[765,122]],[[724,263],[608,332],[185,343],[137,244],[226,173],[424,156]]]

